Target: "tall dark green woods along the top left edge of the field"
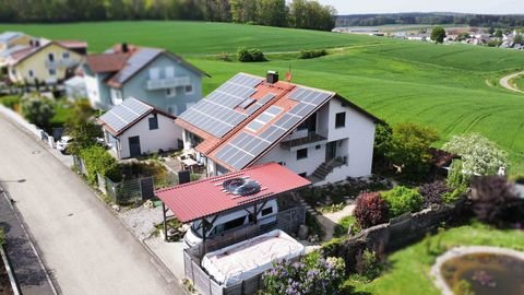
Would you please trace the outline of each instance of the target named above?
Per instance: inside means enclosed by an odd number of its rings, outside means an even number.
[[[336,10],[314,0],[2,0],[1,23],[126,20],[236,22],[330,31]]]

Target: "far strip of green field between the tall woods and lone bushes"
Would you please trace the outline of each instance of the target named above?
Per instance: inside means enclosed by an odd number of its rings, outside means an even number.
[[[342,47],[384,42],[383,38],[327,32],[229,23],[136,21],[74,24],[0,24],[2,31],[23,31],[51,39],[83,39],[100,52],[116,43],[167,48],[187,55],[234,52],[239,46],[263,51]]]

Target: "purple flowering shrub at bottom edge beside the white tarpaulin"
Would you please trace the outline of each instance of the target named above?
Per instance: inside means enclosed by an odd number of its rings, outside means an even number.
[[[300,261],[282,261],[262,275],[264,294],[337,294],[344,282],[342,258],[313,253]]]

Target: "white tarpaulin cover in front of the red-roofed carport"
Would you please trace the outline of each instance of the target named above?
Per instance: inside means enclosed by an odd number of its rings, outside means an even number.
[[[219,284],[231,286],[271,269],[273,261],[293,259],[303,251],[300,243],[275,229],[206,253],[202,268]]]

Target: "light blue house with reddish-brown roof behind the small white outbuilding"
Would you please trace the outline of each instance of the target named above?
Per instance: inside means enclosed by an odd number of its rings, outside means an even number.
[[[133,96],[172,116],[202,98],[207,75],[164,49],[127,44],[88,55],[83,71],[93,107],[109,109]]]

